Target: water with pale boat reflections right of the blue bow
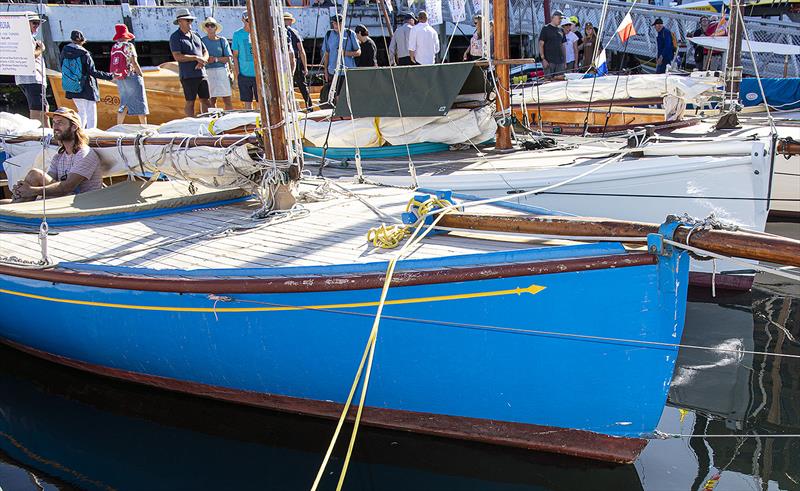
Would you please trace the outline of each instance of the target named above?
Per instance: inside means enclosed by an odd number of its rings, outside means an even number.
[[[722,300],[693,292],[682,342],[800,355],[800,287],[792,296],[787,288],[762,284]],[[675,452],[672,464],[696,469],[676,473],[686,474],[676,489],[703,489],[715,477],[718,490],[800,489],[800,438],[767,437],[800,434],[800,360],[683,349],[668,405],[662,431],[730,435],[661,442]],[[656,447],[637,466],[654,472]]]

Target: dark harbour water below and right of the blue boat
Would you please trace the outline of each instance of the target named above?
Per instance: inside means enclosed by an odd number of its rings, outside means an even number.
[[[800,355],[800,286],[762,276],[750,293],[690,300],[683,343]],[[719,473],[716,491],[800,489],[800,438],[768,437],[800,434],[800,360],[684,349],[659,427],[728,437],[653,440],[634,465],[612,466],[362,428],[345,488],[703,490]],[[4,491],[309,489],[332,428],[0,347]]]

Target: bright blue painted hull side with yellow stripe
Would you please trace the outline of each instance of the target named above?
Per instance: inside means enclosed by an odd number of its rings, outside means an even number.
[[[598,247],[606,257],[625,256],[618,245],[563,248],[561,255],[593,260]],[[552,262],[558,251],[524,254],[535,264]],[[471,266],[487,269],[505,260],[502,253],[477,257],[482,262]],[[401,271],[419,263],[407,261]],[[319,269],[340,276],[353,268]],[[620,340],[680,342],[688,269],[688,257],[675,253],[656,264],[393,287],[366,404],[389,414],[614,437],[652,432],[677,348]],[[380,294],[333,288],[220,300],[0,275],[6,312],[0,337],[100,373],[173,381],[173,388],[229,399],[248,394],[243,401],[253,394],[282,397],[314,414],[317,401],[345,400]]]

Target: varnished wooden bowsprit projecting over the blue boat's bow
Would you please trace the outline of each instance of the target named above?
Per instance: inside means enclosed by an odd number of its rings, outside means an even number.
[[[441,227],[570,237],[615,237],[621,240],[658,233],[658,225],[605,218],[475,215],[453,213],[439,221]],[[676,242],[725,256],[768,261],[800,267],[800,241],[777,235],[744,231],[696,230],[681,226],[675,231]]]

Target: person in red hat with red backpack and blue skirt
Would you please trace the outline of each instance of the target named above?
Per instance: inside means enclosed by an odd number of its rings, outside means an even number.
[[[128,31],[125,24],[114,26],[114,45],[111,47],[111,66],[119,91],[119,110],[117,124],[125,122],[125,116],[137,116],[139,123],[147,124],[150,110],[147,106],[147,93],[144,89],[142,67],[136,56],[136,47],[131,41],[136,37]]]

